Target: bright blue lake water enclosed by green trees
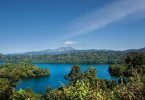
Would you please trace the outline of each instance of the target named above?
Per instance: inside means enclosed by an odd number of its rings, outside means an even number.
[[[68,84],[68,81],[64,79],[64,76],[67,75],[72,68],[72,64],[35,64],[40,68],[48,68],[50,71],[50,76],[41,77],[41,78],[30,78],[21,80],[16,89],[26,89],[31,88],[36,93],[45,93],[47,87],[53,89],[58,88],[61,84]],[[80,65],[81,70],[85,71],[89,66],[94,67],[97,70],[96,76],[100,79],[107,80],[117,80],[116,77],[113,77],[108,72],[109,65]]]

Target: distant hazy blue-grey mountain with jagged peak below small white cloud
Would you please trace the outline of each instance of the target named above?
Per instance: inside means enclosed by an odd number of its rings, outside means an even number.
[[[47,49],[47,50],[41,50],[41,51],[35,51],[35,52],[27,52],[24,53],[26,55],[39,55],[39,54],[64,54],[69,53],[71,51],[74,51],[76,49],[72,47],[60,47],[57,49]]]

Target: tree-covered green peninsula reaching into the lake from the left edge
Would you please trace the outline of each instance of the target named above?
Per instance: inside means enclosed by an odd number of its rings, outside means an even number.
[[[0,66],[0,77],[11,80],[20,80],[21,78],[40,77],[49,75],[48,69],[40,69],[32,64],[5,64]]]

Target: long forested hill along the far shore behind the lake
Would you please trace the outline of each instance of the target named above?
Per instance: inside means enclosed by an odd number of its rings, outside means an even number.
[[[68,52],[69,51],[69,52]],[[17,54],[5,55],[1,58],[4,62],[31,62],[31,63],[72,63],[72,64],[110,64],[124,63],[129,52],[143,52],[142,49],[125,51],[113,50],[67,50],[62,54]]]

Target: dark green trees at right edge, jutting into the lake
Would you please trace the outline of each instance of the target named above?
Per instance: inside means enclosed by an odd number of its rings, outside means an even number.
[[[109,72],[117,76],[134,76],[145,74],[145,54],[132,52],[125,59],[125,64],[110,65]]]

